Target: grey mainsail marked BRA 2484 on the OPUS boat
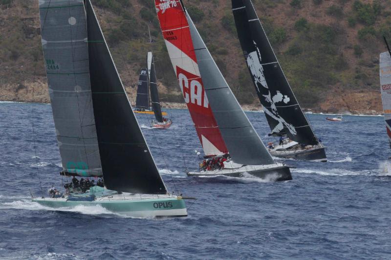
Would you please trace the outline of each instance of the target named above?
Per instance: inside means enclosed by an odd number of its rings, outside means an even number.
[[[82,0],[40,0],[49,95],[63,172],[101,176]]]

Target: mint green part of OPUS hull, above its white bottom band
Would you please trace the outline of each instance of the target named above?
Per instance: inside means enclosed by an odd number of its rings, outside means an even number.
[[[98,198],[99,199],[99,198]],[[51,208],[64,208],[100,205],[111,212],[142,212],[186,209],[183,199],[143,199],[143,200],[109,200],[109,201],[65,201],[65,200],[41,200],[34,199],[43,206]]]

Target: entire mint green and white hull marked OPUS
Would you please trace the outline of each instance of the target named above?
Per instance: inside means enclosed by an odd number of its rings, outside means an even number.
[[[187,216],[185,201],[180,198],[153,198],[153,199],[131,199],[131,200],[104,200],[99,197],[94,201],[69,201],[59,199],[33,199],[43,206],[56,208],[75,206],[101,206],[113,213],[124,213],[134,217],[159,217],[159,216]]]

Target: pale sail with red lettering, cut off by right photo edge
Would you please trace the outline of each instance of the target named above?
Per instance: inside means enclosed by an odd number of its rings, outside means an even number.
[[[382,94],[384,120],[391,148],[391,54],[380,54],[380,91]]]

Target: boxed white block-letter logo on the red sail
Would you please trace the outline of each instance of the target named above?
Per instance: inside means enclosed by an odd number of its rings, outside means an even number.
[[[199,78],[197,78],[199,79]],[[209,107],[209,100],[206,97],[205,90],[197,79],[188,79],[185,74],[179,73],[179,86],[187,104],[192,103],[205,108]]]

